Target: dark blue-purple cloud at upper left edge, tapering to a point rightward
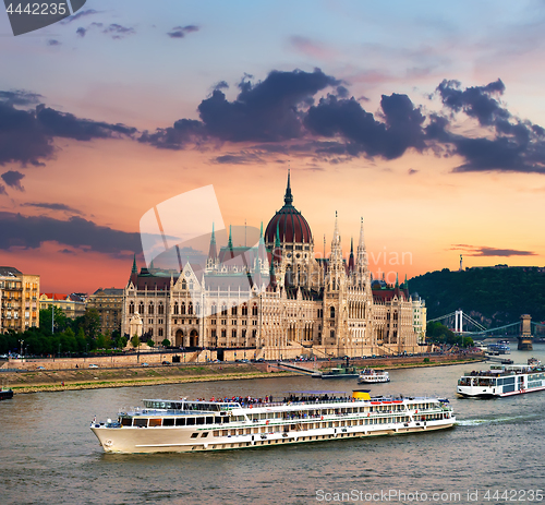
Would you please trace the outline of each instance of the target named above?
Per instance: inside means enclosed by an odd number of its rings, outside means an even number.
[[[14,104],[27,105],[39,95],[23,92],[2,92],[2,94],[0,95],[0,165],[14,161],[23,166],[43,166],[39,158],[51,158],[55,152],[55,137],[90,141],[136,133],[136,129],[123,124],[80,119],[45,105],[37,106],[35,110],[16,109]],[[1,100],[2,97],[4,101]]]

